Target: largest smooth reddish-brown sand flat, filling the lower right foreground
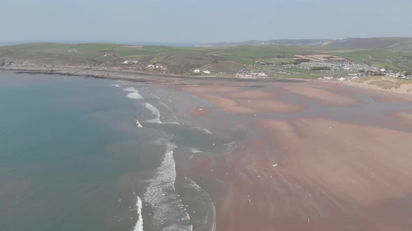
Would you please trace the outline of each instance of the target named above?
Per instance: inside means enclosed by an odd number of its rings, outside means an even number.
[[[412,228],[411,133],[323,118],[257,125],[269,140],[214,171],[226,184],[216,230]]]

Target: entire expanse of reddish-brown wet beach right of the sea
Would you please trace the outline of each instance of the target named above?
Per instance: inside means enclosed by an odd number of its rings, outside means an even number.
[[[183,89],[214,104],[206,120],[217,113],[250,131],[230,154],[190,161],[216,230],[412,229],[409,99],[328,83],[236,84]]]

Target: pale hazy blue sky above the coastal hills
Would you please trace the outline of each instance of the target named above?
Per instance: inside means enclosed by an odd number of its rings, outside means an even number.
[[[412,37],[411,0],[0,0],[0,42]]]

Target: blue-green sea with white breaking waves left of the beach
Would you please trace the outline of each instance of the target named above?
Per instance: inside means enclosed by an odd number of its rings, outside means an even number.
[[[244,136],[196,124],[188,99],[207,104],[163,86],[0,72],[0,230],[214,230],[209,193],[175,159],[223,155]]]

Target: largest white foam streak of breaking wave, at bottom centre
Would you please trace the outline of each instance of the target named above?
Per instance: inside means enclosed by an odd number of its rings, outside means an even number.
[[[152,205],[154,210],[153,225],[156,230],[192,230],[190,216],[182,207],[182,200],[175,191],[175,159],[173,150],[176,145],[161,141],[166,145],[161,166],[156,177],[150,180],[143,200]]]

